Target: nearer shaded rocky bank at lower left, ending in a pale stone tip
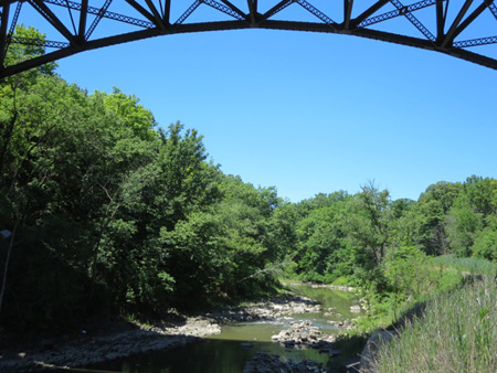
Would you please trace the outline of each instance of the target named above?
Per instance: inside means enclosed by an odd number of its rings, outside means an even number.
[[[204,317],[155,327],[119,322],[110,329],[114,330],[82,330],[77,337],[47,339],[28,349],[4,348],[0,353],[0,372],[88,366],[130,354],[186,345],[201,337],[221,332],[215,321]]]

